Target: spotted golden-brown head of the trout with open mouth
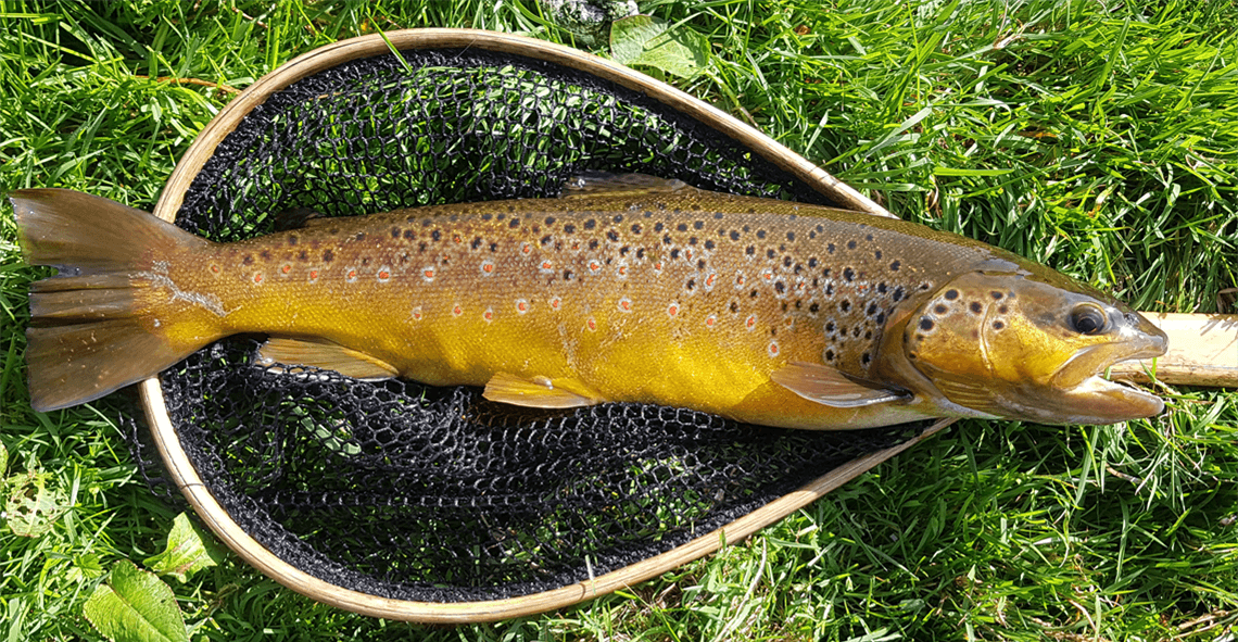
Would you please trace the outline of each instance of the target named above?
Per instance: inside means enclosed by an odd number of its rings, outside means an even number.
[[[1113,296],[1037,268],[953,278],[906,319],[907,364],[976,416],[1110,424],[1159,414],[1159,397],[1104,373],[1164,354],[1165,333]]]

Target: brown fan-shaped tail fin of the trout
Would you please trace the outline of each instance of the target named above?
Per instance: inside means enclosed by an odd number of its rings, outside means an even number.
[[[58,269],[31,285],[26,363],[36,410],[98,399],[201,347],[171,345],[137,295],[160,278],[156,263],[209,242],[69,190],[21,190],[9,198],[26,260]],[[166,264],[163,273],[166,279]]]

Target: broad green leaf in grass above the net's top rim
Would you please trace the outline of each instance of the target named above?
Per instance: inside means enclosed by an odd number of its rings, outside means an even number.
[[[670,29],[652,16],[631,16],[610,25],[610,55],[629,67],[652,67],[693,78],[709,62],[709,45],[692,30]]]

